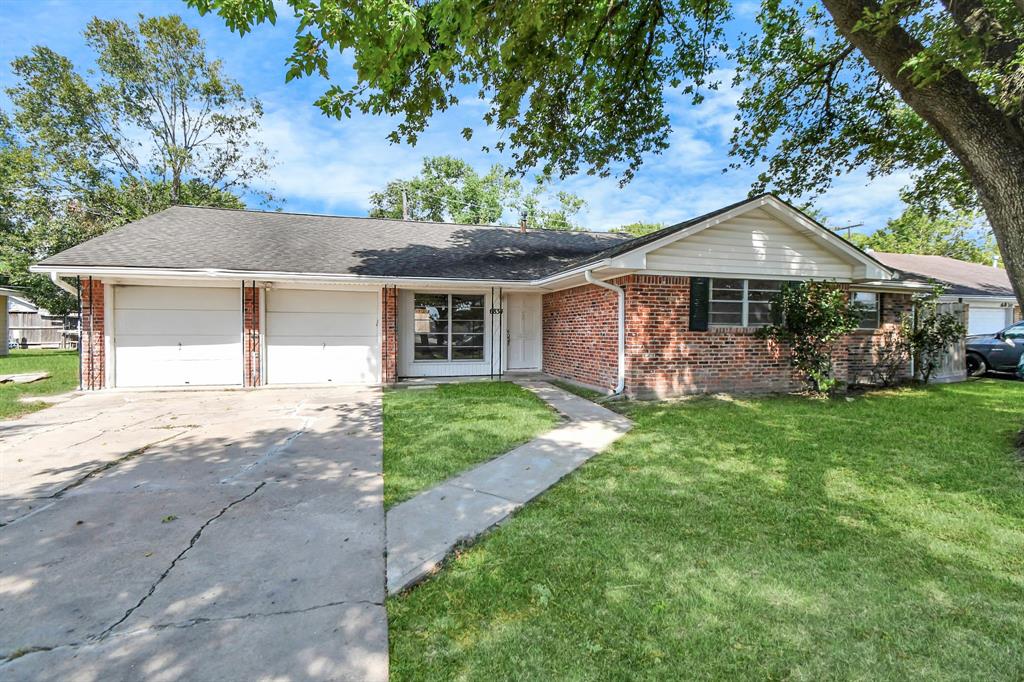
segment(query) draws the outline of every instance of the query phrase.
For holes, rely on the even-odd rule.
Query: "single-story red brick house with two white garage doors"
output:
[[[86,389],[543,371],[629,395],[788,390],[785,352],[754,336],[782,282],[866,304],[836,358],[850,381],[927,290],[771,195],[638,239],[174,207],[33,269],[81,292]]]

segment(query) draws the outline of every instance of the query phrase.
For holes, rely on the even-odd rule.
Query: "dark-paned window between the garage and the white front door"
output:
[[[414,294],[414,359],[483,359],[483,295]]]

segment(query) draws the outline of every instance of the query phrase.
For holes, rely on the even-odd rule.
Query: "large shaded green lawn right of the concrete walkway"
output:
[[[1024,678],[1024,383],[624,409],[388,600],[392,679]]]

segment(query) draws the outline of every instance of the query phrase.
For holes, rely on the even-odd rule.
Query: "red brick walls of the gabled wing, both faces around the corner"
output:
[[[667,397],[708,392],[784,392],[804,386],[788,350],[758,339],[755,330],[689,331],[690,283],[685,276],[630,275],[626,289],[626,392]],[[890,326],[910,309],[909,296],[885,295]],[[611,389],[616,372],[615,295],[593,285],[544,296],[544,371]],[[860,333],[839,344],[836,376],[869,371],[883,335]]]

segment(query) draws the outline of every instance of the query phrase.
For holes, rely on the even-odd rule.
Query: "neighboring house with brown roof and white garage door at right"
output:
[[[945,256],[873,251],[871,255],[905,280],[942,285],[942,300],[965,304],[968,335],[994,334],[1021,318],[1020,302],[1001,268]]]

